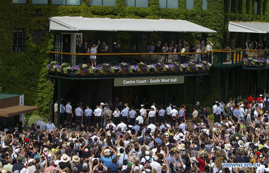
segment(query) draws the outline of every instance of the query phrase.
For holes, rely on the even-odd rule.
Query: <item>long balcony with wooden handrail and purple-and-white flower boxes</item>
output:
[[[244,58],[247,52],[248,57]],[[90,56],[96,56],[92,67]],[[193,76],[210,68],[269,68],[268,50],[213,50],[206,53],[62,53],[50,52],[50,76],[99,79],[136,76]],[[253,59],[256,63],[248,63]],[[264,62],[261,63],[260,59]],[[213,63],[212,63],[213,62]],[[68,76],[68,77],[67,77]],[[105,76],[105,77],[104,77]]]

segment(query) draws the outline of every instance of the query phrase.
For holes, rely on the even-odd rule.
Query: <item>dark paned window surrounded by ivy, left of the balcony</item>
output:
[[[24,51],[24,35],[23,30],[13,31],[13,52],[23,52]]]

